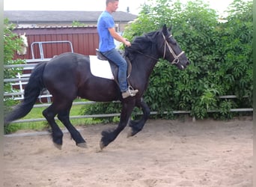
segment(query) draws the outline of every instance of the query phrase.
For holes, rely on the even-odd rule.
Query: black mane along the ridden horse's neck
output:
[[[135,37],[132,46],[126,47],[125,49],[125,54],[129,57],[130,61],[135,58],[135,53],[141,52],[147,54],[148,52],[155,52],[156,45],[154,43],[156,43],[156,36],[158,34],[159,31],[152,31],[141,37]]]

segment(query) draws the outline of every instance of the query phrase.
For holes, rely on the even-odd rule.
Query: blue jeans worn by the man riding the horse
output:
[[[124,60],[122,55],[120,55],[120,53],[116,49],[111,49],[108,52],[101,53],[118,66],[118,82],[120,91],[127,91],[127,61]]]

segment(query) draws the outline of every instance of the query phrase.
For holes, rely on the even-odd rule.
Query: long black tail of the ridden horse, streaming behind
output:
[[[28,84],[25,86],[24,99],[19,103],[19,105],[16,105],[10,114],[7,114],[7,116],[4,117],[4,125],[13,120],[25,117],[25,115],[31,111],[34,103],[37,101],[37,97],[40,95],[40,92],[45,88],[43,84],[43,70],[45,66],[46,62],[42,62],[34,67],[34,70],[28,80]]]

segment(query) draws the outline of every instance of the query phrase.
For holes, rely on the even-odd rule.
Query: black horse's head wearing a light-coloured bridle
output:
[[[162,58],[176,65],[180,70],[184,70],[189,65],[189,60],[186,58],[185,52],[180,49],[177,41],[174,40],[171,34],[171,27],[166,28],[166,25],[162,27],[162,39]]]

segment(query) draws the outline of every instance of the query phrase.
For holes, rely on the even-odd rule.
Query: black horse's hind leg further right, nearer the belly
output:
[[[58,119],[66,126],[67,130],[70,132],[71,137],[76,141],[78,147],[86,147],[86,142],[82,135],[76,130],[76,128],[70,123],[70,108],[72,102],[68,108],[58,113]]]

